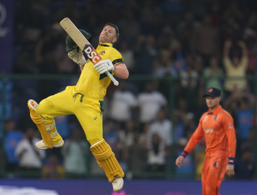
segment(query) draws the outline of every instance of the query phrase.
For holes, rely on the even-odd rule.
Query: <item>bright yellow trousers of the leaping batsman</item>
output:
[[[46,125],[53,123],[54,117],[74,114],[84,129],[87,140],[93,145],[103,140],[100,102],[98,99],[82,96],[75,91],[75,86],[68,86],[64,91],[43,99],[37,107],[37,113],[46,119]]]

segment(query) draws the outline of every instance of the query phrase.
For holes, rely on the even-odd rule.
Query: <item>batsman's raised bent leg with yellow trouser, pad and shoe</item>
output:
[[[30,115],[33,122],[37,125],[43,140],[36,143],[36,147],[41,150],[53,147],[62,147],[64,141],[57,132],[54,117],[72,114],[72,95],[71,89],[49,96],[39,104],[34,100],[28,101]]]

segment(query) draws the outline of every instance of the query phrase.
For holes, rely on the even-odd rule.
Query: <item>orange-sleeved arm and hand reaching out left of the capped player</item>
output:
[[[182,166],[182,161],[186,158],[186,156],[195,148],[195,146],[197,144],[199,144],[199,142],[201,141],[203,135],[204,135],[204,131],[202,129],[201,126],[201,119],[199,121],[199,125],[196,128],[195,132],[192,134],[188,144],[186,145],[186,147],[184,148],[184,151],[181,153],[181,155],[179,155],[176,159],[176,165],[178,166],[178,168],[181,168]]]

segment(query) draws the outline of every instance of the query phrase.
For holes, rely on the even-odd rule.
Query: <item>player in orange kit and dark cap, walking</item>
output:
[[[203,195],[218,195],[222,179],[235,175],[236,133],[233,118],[219,105],[221,91],[209,88],[203,95],[209,108],[199,121],[184,152],[177,157],[176,165],[181,168],[184,158],[204,136],[206,156],[203,163],[201,182]]]

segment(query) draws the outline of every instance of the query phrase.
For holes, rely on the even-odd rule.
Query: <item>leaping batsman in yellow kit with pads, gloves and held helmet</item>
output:
[[[90,34],[80,31],[88,40],[91,39]],[[67,86],[64,91],[43,99],[39,104],[34,100],[28,101],[31,118],[43,138],[36,143],[36,147],[40,150],[62,147],[64,141],[57,132],[54,118],[74,114],[84,129],[91,152],[112,182],[114,191],[123,187],[124,173],[102,136],[102,105],[111,82],[106,72],[112,72],[123,79],[129,76],[121,54],[113,48],[118,36],[119,31],[115,24],[107,23],[104,26],[96,48],[102,61],[94,66],[90,60],[86,61],[83,52],[68,35],[66,51],[82,71],[78,83],[76,86]]]

